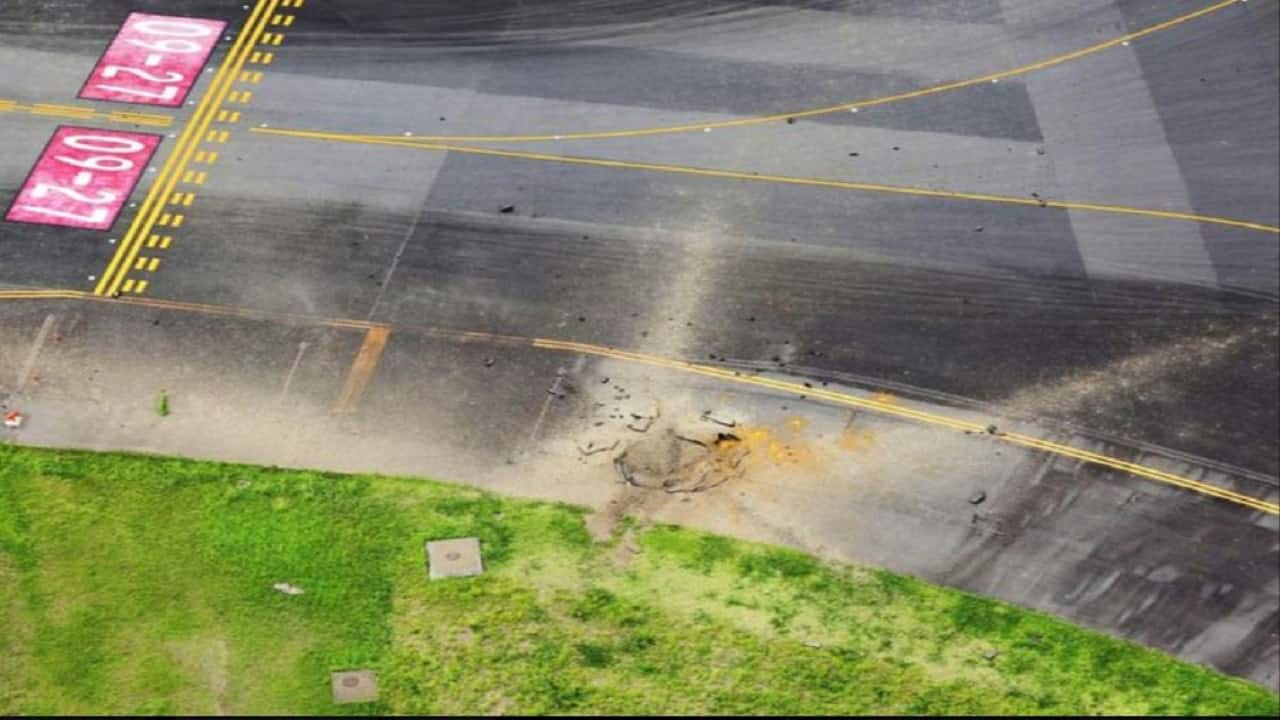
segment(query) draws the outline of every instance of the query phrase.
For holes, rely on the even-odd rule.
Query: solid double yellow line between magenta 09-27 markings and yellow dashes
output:
[[[266,23],[279,4],[280,0],[257,0],[253,12],[250,13],[244,27],[241,29],[239,37],[236,38],[236,44],[218,68],[209,92],[201,97],[191,120],[178,137],[178,145],[169,154],[159,177],[143,199],[138,214],[133,218],[133,223],[129,224],[129,229],[119,246],[116,246],[115,254],[106,265],[106,270],[93,288],[93,295],[114,296],[119,292],[120,283],[124,282],[129,268],[133,266],[133,261],[138,255],[138,250],[142,247],[142,241],[155,227],[168,199],[173,196],[178,178],[191,161],[191,156],[200,145],[201,138],[205,137],[205,132],[209,129],[210,123],[212,123],[214,115],[216,115],[219,108],[227,100],[227,94],[230,92],[241,68],[244,67],[250,51],[261,40]]]

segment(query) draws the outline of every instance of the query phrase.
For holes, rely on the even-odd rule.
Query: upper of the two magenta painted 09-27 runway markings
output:
[[[223,20],[132,13],[78,97],[177,108],[225,28]]]

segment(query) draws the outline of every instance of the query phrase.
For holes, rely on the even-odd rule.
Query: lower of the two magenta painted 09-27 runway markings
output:
[[[110,229],[159,145],[159,135],[61,126],[4,219]]]

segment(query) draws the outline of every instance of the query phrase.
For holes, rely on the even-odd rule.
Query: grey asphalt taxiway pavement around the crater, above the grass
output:
[[[1274,502],[1276,233],[1038,200],[1280,224],[1277,3],[1228,4],[998,82],[804,113],[1038,63],[1207,6],[307,0],[273,26],[284,35],[266,47],[273,61],[247,65],[262,77],[173,245],[142,251],[161,259],[129,275],[147,281],[145,293],[123,293],[269,315],[0,302],[10,341],[0,397],[59,414],[81,402],[100,420],[33,425],[29,442],[431,474],[593,503],[611,488],[538,475],[559,477],[539,462],[584,420],[545,397],[557,397],[547,395],[556,378],[595,382],[612,361],[490,346],[492,336],[557,338],[980,410]],[[128,12],[239,27],[243,8],[5,3],[0,100],[105,110],[74,95]],[[193,101],[215,82],[209,73]],[[173,114],[163,154],[200,110]],[[723,127],[758,115],[778,118]],[[59,122],[81,120],[0,113],[0,200]],[[529,158],[444,152],[422,140],[434,136],[547,138],[457,141],[540,154]],[[913,190],[792,182],[814,178]],[[133,222],[127,211],[110,233],[0,224],[0,290],[93,292]],[[45,363],[27,352],[46,318],[68,345],[40,357],[65,356],[32,370]],[[316,329],[316,318],[392,328],[355,414],[329,413],[361,337]],[[138,407],[159,378],[225,421],[156,429]],[[712,396],[675,375],[645,382],[662,402]],[[271,425],[282,439],[259,447],[229,429],[219,401],[233,398],[251,415],[301,414],[305,427],[288,433],[305,439]],[[786,411],[755,409],[764,401],[753,393],[742,402],[760,421],[827,411],[794,396]],[[364,450],[325,450],[335,442]],[[753,512],[772,519],[767,530],[718,529],[918,573],[1280,682],[1274,516],[1166,505],[1170,488],[1146,480],[970,445],[887,447],[904,466],[924,462],[925,478],[963,478],[964,492],[1004,483],[992,512],[1005,529],[974,530],[951,483],[920,487],[890,470],[897,495],[814,488],[760,500]],[[1071,486],[1066,500],[1059,486]],[[1129,493],[1158,502],[1134,509]],[[938,523],[950,530],[925,529]]]

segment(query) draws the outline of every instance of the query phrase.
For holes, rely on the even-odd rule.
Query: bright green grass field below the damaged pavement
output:
[[[1280,712],[998,602],[627,532],[426,480],[0,445],[0,714]],[[488,571],[429,582],[422,542],[460,536]],[[347,667],[379,671],[376,706],[330,703]]]

